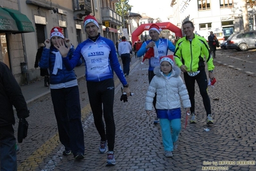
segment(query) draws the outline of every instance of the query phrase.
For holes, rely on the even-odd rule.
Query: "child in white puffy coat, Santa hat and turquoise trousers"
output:
[[[157,93],[157,116],[160,119],[162,141],[167,158],[173,156],[172,151],[178,145],[178,135],[182,129],[180,99],[187,113],[191,107],[187,88],[180,77],[180,72],[175,65],[173,55],[162,56],[160,66],[154,69],[156,75],[146,94],[145,110],[149,114],[152,110],[153,98]]]

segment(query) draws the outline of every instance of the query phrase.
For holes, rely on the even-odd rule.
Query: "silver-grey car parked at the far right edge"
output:
[[[247,51],[255,48],[256,31],[235,33],[226,40],[226,49],[236,49],[237,51]]]

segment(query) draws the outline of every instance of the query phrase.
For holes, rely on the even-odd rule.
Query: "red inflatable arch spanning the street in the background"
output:
[[[138,38],[139,35],[141,35],[141,33],[144,30],[148,30],[149,27],[151,26],[151,24],[141,24],[141,26],[139,26],[139,28],[137,28],[137,29],[135,29],[135,31],[133,31],[133,33],[132,33],[132,44],[134,44],[134,42],[139,40],[139,38]],[[173,33],[175,33],[176,37],[182,37],[182,29],[180,29],[177,26],[171,24],[171,22],[158,22],[158,23],[154,23],[154,24],[157,24],[157,26],[161,29],[169,29],[170,31],[173,31]]]

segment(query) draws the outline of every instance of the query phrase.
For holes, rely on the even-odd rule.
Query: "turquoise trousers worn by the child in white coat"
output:
[[[164,151],[173,151],[173,143],[178,140],[178,135],[182,129],[182,122],[180,118],[173,120],[160,118],[159,120],[162,130],[162,142],[164,145]]]

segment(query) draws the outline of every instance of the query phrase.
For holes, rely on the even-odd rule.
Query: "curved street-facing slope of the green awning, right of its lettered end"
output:
[[[17,10],[12,10],[9,8],[2,8],[6,12],[8,12],[12,18],[16,21],[17,27],[19,31],[17,33],[29,33],[29,32],[35,32],[35,29],[33,28],[33,24],[28,19],[26,15],[23,13],[17,11]]]

